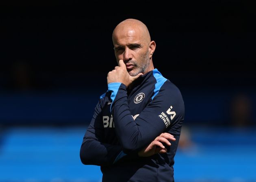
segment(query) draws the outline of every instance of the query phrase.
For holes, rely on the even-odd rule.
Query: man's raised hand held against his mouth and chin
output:
[[[107,81],[109,83],[120,82],[128,87],[134,80],[139,78],[142,73],[137,74],[136,76],[130,76],[127,72],[126,65],[122,59],[119,60],[119,66],[115,67],[115,70],[108,72]]]

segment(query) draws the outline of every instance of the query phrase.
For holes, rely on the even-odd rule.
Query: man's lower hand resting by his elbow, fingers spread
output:
[[[170,146],[171,143],[169,140],[175,141],[176,139],[170,133],[161,133],[161,135],[156,137],[155,140],[151,142],[147,147],[139,151],[138,155],[140,157],[150,157],[157,153],[164,154],[167,152],[167,149],[163,144]]]

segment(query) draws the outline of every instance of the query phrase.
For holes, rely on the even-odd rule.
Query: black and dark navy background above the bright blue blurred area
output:
[[[89,123],[116,65],[112,31],[126,18],[148,26],[154,66],[180,88],[188,124],[229,124],[240,94],[254,108],[254,3],[154,3],[2,4],[0,122]]]

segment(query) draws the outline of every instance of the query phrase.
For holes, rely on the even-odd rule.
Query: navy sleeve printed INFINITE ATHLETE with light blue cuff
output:
[[[184,119],[184,102],[179,89],[165,82],[158,93],[134,120],[129,109],[126,86],[108,84],[108,90],[115,97],[111,112],[115,121],[115,131],[124,152],[138,152],[158,135],[176,127]]]

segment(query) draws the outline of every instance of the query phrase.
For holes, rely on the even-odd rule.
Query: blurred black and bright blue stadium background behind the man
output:
[[[256,182],[254,3],[164,5],[0,6],[1,182],[101,181],[79,150],[116,64],[112,31],[126,18],[148,25],[154,66],[183,95],[176,182]]]

